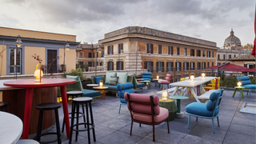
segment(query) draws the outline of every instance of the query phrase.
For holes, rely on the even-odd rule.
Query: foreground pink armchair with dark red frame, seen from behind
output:
[[[128,102],[127,107],[130,110],[130,135],[133,129],[133,122],[138,122],[139,126],[141,124],[152,125],[154,142],[154,126],[165,121],[167,122],[168,134],[170,134],[169,111],[158,106],[159,98],[157,95],[125,93],[124,98]]]

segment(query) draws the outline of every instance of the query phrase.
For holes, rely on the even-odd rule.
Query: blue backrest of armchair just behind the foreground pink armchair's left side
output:
[[[134,93],[133,87],[134,87],[134,84],[132,82],[117,85],[118,96],[120,98],[120,101],[122,98],[124,98],[125,93],[129,93],[129,94]]]

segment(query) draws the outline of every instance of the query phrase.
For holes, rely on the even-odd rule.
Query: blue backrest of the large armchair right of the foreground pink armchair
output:
[[[219,108],[222,102],[223,90],[218,89],[210,94],[210,101],[206,104],[206,109],[213,111],[213,117],[215,111]]]

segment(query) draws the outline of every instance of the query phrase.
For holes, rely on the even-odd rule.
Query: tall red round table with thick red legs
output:
[[[74,83],[74,79],[68,78],[42,78],[42,82],[34,82],[35,79],[17,79],[14,81],[3,82],[4,86],[12,86],[18,88],[26,88],[25,110],[23,120],[23,134],[22,138],[27,139],[30,130],[30,114],[33,98],[33,89],[42,87],[61,87],[62,106],[66,123],[66,135],[70,138],[70,118],[66,99],[66,85]]]

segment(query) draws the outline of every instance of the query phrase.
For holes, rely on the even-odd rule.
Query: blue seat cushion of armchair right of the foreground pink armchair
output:
[[[205,117],[212,117],[213,116],[213,110],[207,110],[206,109],[206,103],[200,103],[200,102],[192,102],[189,105],[186,106],[186,113],[189,114],[196,114],[201,115]],[[219,110],[216,109],[214,116],[218,115]]]

